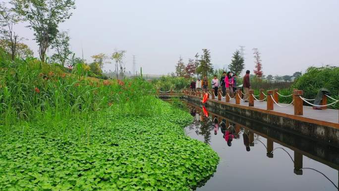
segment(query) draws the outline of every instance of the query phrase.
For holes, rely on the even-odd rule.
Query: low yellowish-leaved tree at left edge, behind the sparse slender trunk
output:
[[[11,54],[12,43],[5,39],[0,39],[0,48],[6,51],[8,54]],[[33,57],[33,51],[26,44],[16,42],[14,57],[15,56],[23,59],[27,57]]]

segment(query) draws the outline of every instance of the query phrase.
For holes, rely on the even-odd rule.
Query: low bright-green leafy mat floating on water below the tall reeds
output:
[[[218,155],[185,135],[188,113],[108,113],[71,130],[44,123],[0,131],[1,191],[189,191],[216,170]],[[95,121],[95,122],[94,122]],[[48,123],[45,123],[45,126]],[[39,126],[39,127],[38,127]],[[79,130],[79,129],[82,130]]]

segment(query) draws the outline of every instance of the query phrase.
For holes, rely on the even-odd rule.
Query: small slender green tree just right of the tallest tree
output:
[[[56,50],[56,54],[54,54],[53,57],[60,62],[62,66],[65,65],[68,56],[72,54],[72,51],[69,49],[69,39],[67,32],[60,32],[52,42],[52,49]]]

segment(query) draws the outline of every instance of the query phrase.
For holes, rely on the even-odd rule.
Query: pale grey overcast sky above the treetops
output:
[[[339,66],[339,0],[76,0],[69,30],[72,51],[91,62],[99,53],[126,50],[125,64],[148,74],[174,71],[201,49],[223,67],[245,46],[246,69],[253,72],[253,48],[264,74],[292,74],[308,66]],[[33,32],[20,27],[20,35]],[[26,43],[36,52],[34,41]],[[52,51],[49,53],[52,54]],[[106,69],[114,68],[106,64]]]

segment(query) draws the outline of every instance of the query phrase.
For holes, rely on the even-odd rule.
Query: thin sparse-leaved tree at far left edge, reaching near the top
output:
[[[6,52],[11,55],[12,61],[17,55],[18,35],[14,32],[14,25],[20,21],[20,17],[6,7],[6,4],[0,3],[0,38],[6,44]]]

